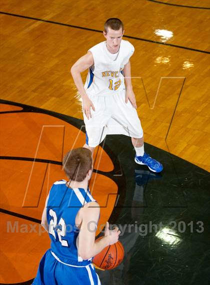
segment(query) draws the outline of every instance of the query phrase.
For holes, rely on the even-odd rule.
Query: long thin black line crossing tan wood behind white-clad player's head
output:
[[[102,33],[102,31],[100,31],[100,30],[95,30],[95,29],[90,29],[90,28],[85,28],[85,27],[79,27],[79,26],[64,24],[64,23],[60,23],[60,22],[54,22],[54,21],[50,21],[50,20],[43,20],[43,19],[39,19],[39,18],[33,18],[33,17],[22,16],[22,15],[6,13],[6,12],[0,12],[0,14],[8,15],[8,16],[14,16],[14,17],[19,17],[19,18],[24,18],[24,19],[29,19],[29,20],[35,20],[35,21],[40,21],[40,22],[45,22],[45,23],[50,23],[50,24],[55,24],[55,25],[60,25],[60,26],[80,29],[80,30],[86,30],[86,31],[91,31],[91,32],[96,32],[96,33]],[[198,49],[192,49],[192,48],[187,48],[187,47],[182,47],[182,46],[173,45],[173,44],[166,44],[166,43],[162,43],[162,42],[158,42],[158,41],[152,41],[152,40],[147,40],[147,39],[127,36],[127,35],[124,35],[123,37],[124,38],[128,38],[128,39],[142,41],[142,42],[148,42],[148,43],[153,43],[153,44],[158,44],[158,45],[163,45],[163,46],[169,46],[169,47],[178,48],[178,49],[184,49],[184,50],[189,50],[189,51],[194,51],[194,52],[199,52],[199,53],[204,53],[204,54],[210,54],[210,52],[207,52],[207,51],[198,50]]]

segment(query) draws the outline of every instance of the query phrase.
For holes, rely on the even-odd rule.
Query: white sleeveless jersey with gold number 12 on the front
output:
[[[104,41],[88,51],[92,53],[94,65],[88,69],[86,93],[105,96],[124,89],[123,68],[134,52],[133,45],[121,40],[118,52],[111,54]]]

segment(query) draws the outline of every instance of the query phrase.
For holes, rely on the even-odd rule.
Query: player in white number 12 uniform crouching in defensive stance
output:
[[[108,19],[103,35],[106,41],[90,48],[72,67],[71,75],[82,99],[86,129],[84,147],[92,152],[107,134],[131,137],[135,162],[147,165],[153,172],[162,171],[161,163],[144,152],[143,130],[136,112],[132,90],[130,61],[134,47],[122,40],[123,24]],[[88,69],[83,86],[80,73]],[[92,110],[91,110],[92,109]]]

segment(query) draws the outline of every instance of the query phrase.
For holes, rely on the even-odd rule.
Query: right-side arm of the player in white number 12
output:
[[[125,96],[125,103],[129,100],[132,106],[137,109],[136,101],[135,101],[135,94],[132,90],[132,82],[131,82],[131,69],[130,69],[130,61],[125,64],[123,68],[124,73],[124,81],[126,86],[126,96]]]

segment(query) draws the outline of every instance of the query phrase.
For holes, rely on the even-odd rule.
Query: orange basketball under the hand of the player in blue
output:
[[[92,262],[103,270],[109,270],[117,267],[122,262],[123,257],[124,248],[118,240],[116,243],[103,248],[102,251],[93,257]]]

